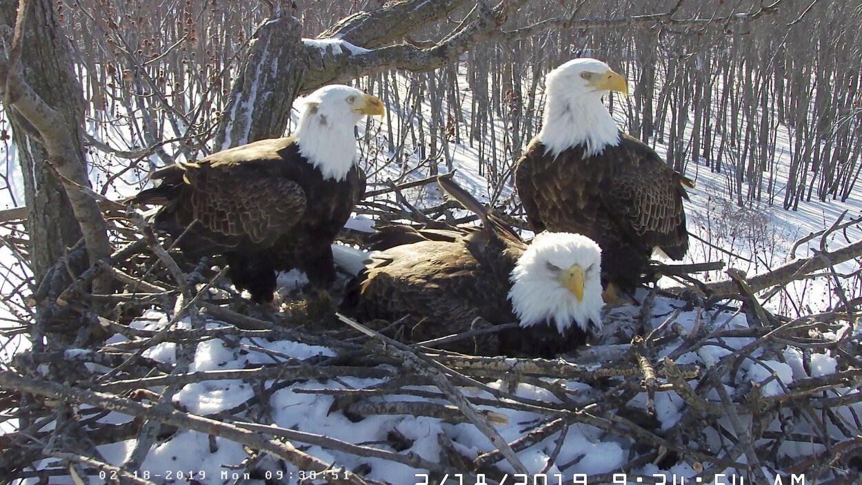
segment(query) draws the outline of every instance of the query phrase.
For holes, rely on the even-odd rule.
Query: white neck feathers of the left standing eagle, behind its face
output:
[[[293,134],[299,152],[321,171],[323,178],[344,180],[356,163],[356,137],[353,127],[359,116],[323,113],[314,105],[306,105],[299,115],[299,127]]]

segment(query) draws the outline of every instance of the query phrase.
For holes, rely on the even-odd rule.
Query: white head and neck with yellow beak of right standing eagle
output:
[[[620,143],[619,128],[602,103],[609,91],[628,93],[625,78],[596,59],[572,59],[545,77],[547,103],[539,140],[554,155],[585,145],[585,156]]]

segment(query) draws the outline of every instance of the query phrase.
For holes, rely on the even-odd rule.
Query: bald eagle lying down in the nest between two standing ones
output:
[[[540,233],[526,245],[451,180],[440,185],[482,218],[482,227],[375,235],[372,260],[348,287],[342,309],[359,320],[401,320],[413,342],[519,322],[496,339],[461,340],[447,350],[551,357],[582,345],[602,325],[599,247],[572,233]],[[336,252],[336,262],[342,264]]]

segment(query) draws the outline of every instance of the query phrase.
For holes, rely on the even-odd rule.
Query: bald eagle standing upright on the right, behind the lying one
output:
[[[624,289],[644,282],[657,249],[688,251],[684,187],[694,183],[620,131],[602,103],[625,79],[596,59],[574,59],[545,78],[542,128],[515,166],[515,186],[536,232],[582,233],[602,247],[603,277]],[[607,298],[613,298],[611,289]]]

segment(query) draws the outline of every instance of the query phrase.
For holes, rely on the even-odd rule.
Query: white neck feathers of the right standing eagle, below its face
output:
[[[620,144],[620,130],[597,93],[565,96],[549,86],[539,140],[553,155],[585,145],[585,157]]]

